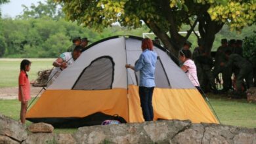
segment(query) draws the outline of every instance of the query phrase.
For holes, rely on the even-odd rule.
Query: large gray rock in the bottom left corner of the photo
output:
[[[28,137],[28,133],[25,130],[25,126],[20,122],[13,120],[0,114],[0,135],[2,139],[8,139],[10,137],[14,141],[22,142]],[[5,140],[3,140],[5,141]],[[0,143],[3,143],[0,140]]]

